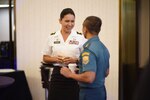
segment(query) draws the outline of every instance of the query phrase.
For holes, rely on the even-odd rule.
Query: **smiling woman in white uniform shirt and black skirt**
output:
[[[86,39],[81,33],[72,30],[75,25],[75,14],[71,8],[62,10],[59,22],[61,30],[49,35],[43,50],[43,61],[55,66],[51,75],[48,99],[79,100],[77,81],[62,76],[60,68],[66,66],[72,70],[76,67]]]

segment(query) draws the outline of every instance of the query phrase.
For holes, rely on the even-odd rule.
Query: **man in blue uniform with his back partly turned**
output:
[[[100,41],[102,21],[99,17],[89,16],[83,22],[83,33],[88,41],[79,59],[79,74],[72,73],[67,67],[61,74],[79,81],[80,100],[106,100],[105,77],[109,73],[109,51]]]

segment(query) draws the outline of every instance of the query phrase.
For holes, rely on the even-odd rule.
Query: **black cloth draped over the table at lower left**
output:
[[[0,88],[0,100],[32,100],[24,71],[0,72],[0,76],[11,77],[15,80],[12,85]]]

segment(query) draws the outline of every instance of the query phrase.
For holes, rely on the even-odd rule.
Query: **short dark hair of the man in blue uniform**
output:
[[[84,20],[85,26],[90,33],[98,34],[101,30],[102,20],[96,16],[89,16]]]

